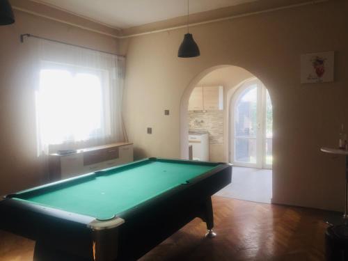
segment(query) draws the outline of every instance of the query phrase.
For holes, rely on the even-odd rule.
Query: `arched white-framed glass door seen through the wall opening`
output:
[[[271,99],[258,80],[246,82],[230,106],[231,162],[236,166],[271,168]]]

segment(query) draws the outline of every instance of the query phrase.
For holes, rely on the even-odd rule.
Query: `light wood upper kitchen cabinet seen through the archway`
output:
[[[203,86],[193,89],[189,111],[223,110],[223,86]]]

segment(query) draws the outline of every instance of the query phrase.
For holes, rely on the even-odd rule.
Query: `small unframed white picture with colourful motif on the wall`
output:
[[[301,84],[333,81],[335,52],[301,55]]]

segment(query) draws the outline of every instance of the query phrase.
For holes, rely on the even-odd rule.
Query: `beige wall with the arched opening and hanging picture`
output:
[[[344,159],[319,148],[336,145],[340,124],[348,126],[347,5],[329,1],[195,26],[198,58],[177,58],[184,29],[122,40],[125,123],[136,157],[180,157],[182,95],[210,68],[235,65],[258,77],[273,102],[274,202],[342,210]],[[328,50],[336,52],[335,81],[301,85],[301,54]]]

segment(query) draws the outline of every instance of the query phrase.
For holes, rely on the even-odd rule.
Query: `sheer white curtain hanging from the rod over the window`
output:
[[[124,141],[125,58],[27,38],[35,82],[38,155]]]

